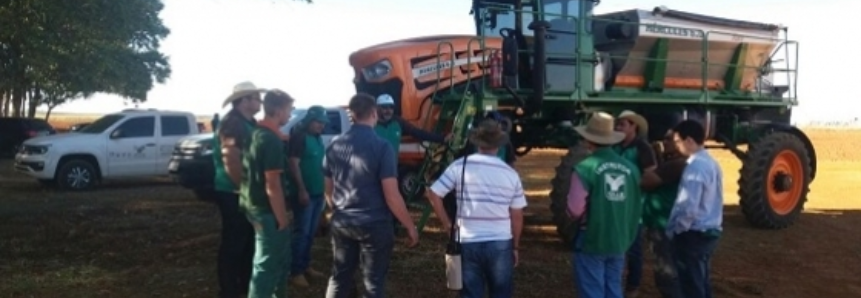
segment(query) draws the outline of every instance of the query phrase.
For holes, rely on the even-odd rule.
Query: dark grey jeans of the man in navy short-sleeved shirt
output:
[[[392,225],[330,226],[332,234],[332,276],[326,298],[346,298],[354,295],[353,273],[361,267],[366,298],[386,297],[386,273],[395,245]]]

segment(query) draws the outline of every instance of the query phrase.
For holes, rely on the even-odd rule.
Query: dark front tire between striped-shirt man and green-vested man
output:
[[[553,224],[556,225],[556,233],[563,243],[570,244],[573,240],[574,221],[568,216],[568,190],[571,187],[571,173],[574,165],[589,156],[585,146],[578,145],[568,149],[568,154],[562,157],[559,166],[556,167],[556,177],[551,180],[550,212],[553,214]]]

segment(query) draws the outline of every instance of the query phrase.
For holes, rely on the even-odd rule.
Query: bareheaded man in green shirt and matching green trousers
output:
[[[284,196],[287,137],[280,128],[292,110],[293,98],[282,91],[268,92],[265,117],[252,131],[242,158],[239,206],[254,226],[257,241],[249,298],[287,297],[292,215]]]

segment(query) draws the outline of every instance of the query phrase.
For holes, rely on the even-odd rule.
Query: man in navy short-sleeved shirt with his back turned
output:
[[[374,133],[374,98],[353,96],[350,111],[355,124],[332,140],[323,159],[334,259],[326,298],[353,294],[353,273],[359,266],[365,274],[364,297],[382,298],[394,246],[394,219],[408,227],[410,247],[418,244],[418,230],[398,191],[395,150]]]

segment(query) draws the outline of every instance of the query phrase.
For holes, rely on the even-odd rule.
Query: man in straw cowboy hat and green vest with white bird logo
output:
[[[622,297],[625,252],[642,213],[640,171],[611,146],[625,139],[613,116],[599,112],[575,127],[591,154],[574,166],[568,213],[581,230],[574,240],[578,297]]]

